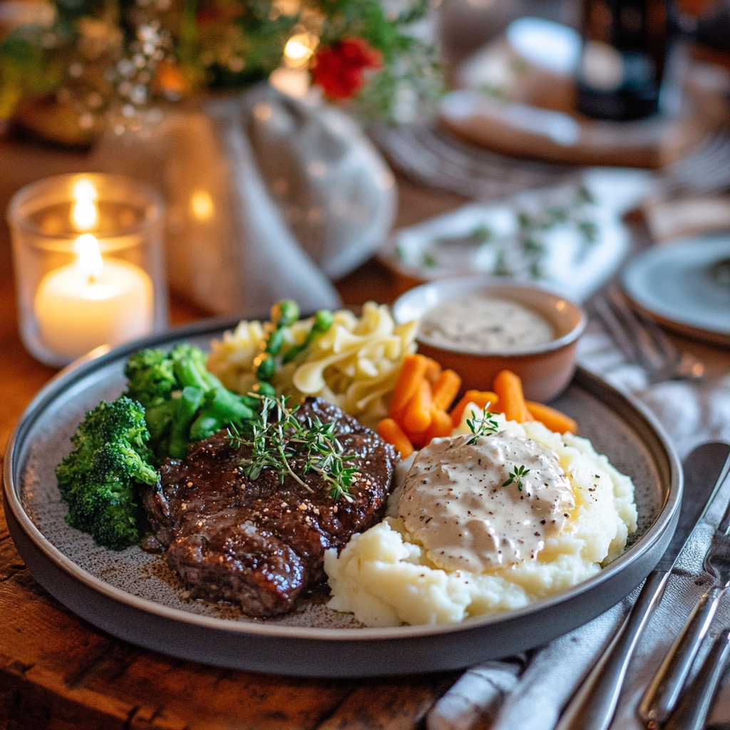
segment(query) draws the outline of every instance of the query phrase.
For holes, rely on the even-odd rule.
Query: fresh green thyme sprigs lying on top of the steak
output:
[[[307,491],[313,492],[301,477],[308,472],[316,472],[330,485],[329,496],[335,502],[340,498],[353,502],[349,488],[357,467],[348,466],[347,462],[356,457],[343,455],[345,450],[334,435],[334,423],[322,423],[317,416],[301,423],[294,416],[299,407],[288,409],[286,398],[252,395],[261,400],[261,412],[258,418],[247,423],[250,435],[231,429],[233,432],[229,431],[228,436],[235,449],[242,446],[251,449],[250,457],[240,461],[241,466],[245,466],[246,476],[256,480],[269,466],[278,472],[280,484],[289,475]],[[292,466],[295,460],[304,461],[301,476]]]

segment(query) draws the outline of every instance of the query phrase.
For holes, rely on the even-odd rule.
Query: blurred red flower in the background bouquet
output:
[[[312,68],[312,79],[330,99],[350,99],[365,85],[365,69],[382,65],[380,51],[362,38],[343,38],[320,47]]]

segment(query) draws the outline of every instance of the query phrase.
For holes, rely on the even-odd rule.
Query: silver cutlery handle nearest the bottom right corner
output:
[[[704,730],[730,658],[730,627],[715,639],[710,653],[664,730]]]

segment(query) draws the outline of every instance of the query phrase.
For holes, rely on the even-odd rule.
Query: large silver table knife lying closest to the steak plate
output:
[[[664,595],[677,556],[702,520],[729,469],[730,446],[726,444],[703,444],[686,458],[684,472],[688,478],[672,542],[656,568],[650,572],[623,626],[566,704],[556,730],[607,730],[610,726],[629,662],[645,626]],[[694,474],[700,471],[703,472],[703,478],[696,480]]]

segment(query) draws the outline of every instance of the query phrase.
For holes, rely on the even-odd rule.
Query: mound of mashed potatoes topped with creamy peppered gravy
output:
[[[552,596],[621,554],[637,527],[629,477],[538,422],[497,415],[499,433],[475,445],[474,410],[401,463],[382,523],[328,550],[329,607],[368,626],[453,623]]]

